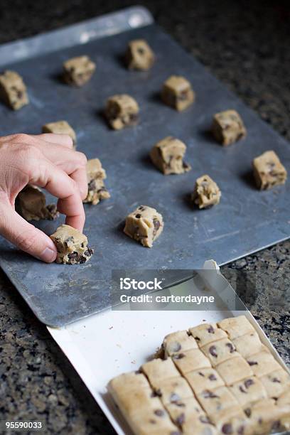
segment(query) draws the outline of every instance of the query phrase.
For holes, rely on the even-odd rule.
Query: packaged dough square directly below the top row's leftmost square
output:
[[[183,376],[193,370],[211,367],[210,360],[199,349],[191,349],[186,352],[176,353],[172,357],[174,364]]]

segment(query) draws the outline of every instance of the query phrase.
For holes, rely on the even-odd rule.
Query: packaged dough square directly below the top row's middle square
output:
[[[210,360],[213,367],[222,363],[229,358],[235,358],[240,354],[237,353],[235,345],[228,338],[222,338],[222,340],[214,341],[201,348],[205,356]]]

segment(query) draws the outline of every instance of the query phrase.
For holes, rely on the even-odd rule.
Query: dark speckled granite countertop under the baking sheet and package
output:
[[[139,1],[272,127],[290,139],[290,6],[282,1]],[[279,6],[278,6],[279,3]],[[132,1],[1,1],[0,43],[92,18]],[[283,6],[284,5],[284,6]],[[17,13],[16,13],[17,11]],[[222,267],[290,365],[290,241]],[[45,326],[0,271],[1,419],[45,434],[113,434]],[[5,399],[3,399],[5,398]]]

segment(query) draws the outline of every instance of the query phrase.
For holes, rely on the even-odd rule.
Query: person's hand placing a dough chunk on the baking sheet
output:
[[[73,151],[73,140],[66,134],[12,134],[0,137],[0,162],[0,234],[44,262],[55,261],[53,241],[16,213],[15,200],[28,184],[44,188],[58,198],[65,223],[82,231],[85,155]]]

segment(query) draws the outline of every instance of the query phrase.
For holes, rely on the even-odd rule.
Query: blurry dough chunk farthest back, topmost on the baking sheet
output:
[[[125,63],[129,70],[149,70],[154,60],[154,52],[144,39],[134,39],[129,42],[125,54]]]

